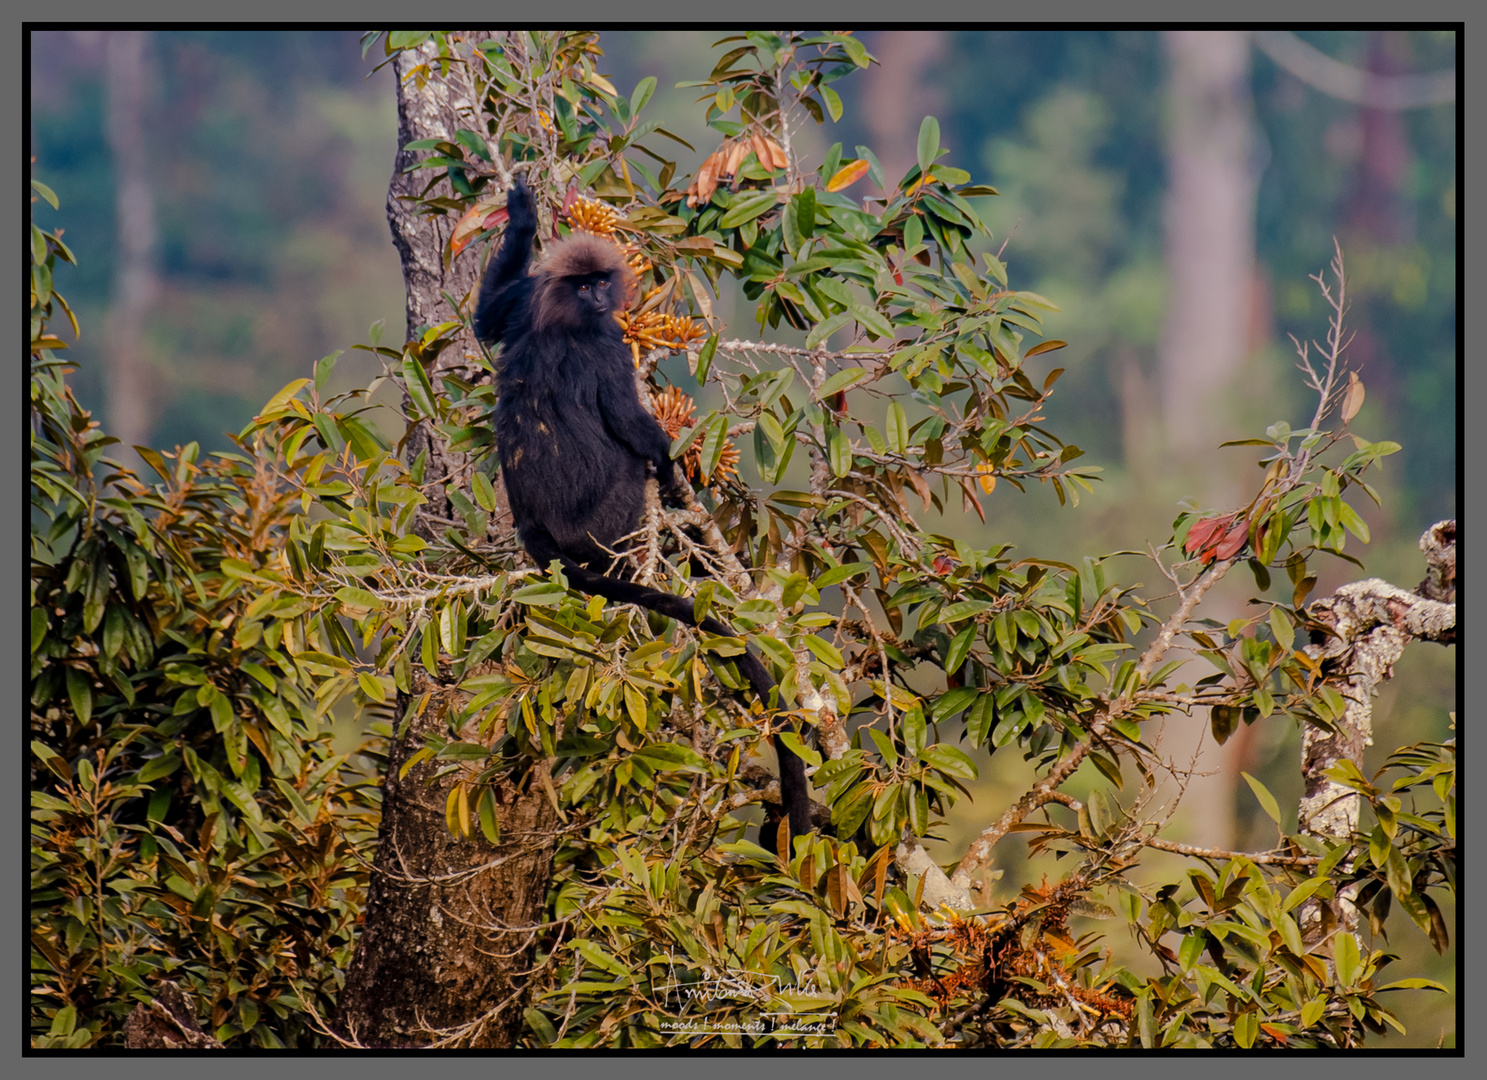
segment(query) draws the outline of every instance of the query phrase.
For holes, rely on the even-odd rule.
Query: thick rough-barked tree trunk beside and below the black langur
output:
[[[419,138],[451,138],[458,128],[479,129],[474,89],[457,79],[404,82],[418,62],[397,58],[399,146]],[[457,68],[458,70],[458,68]],[[407,283],[407,335],[454,318],[442,293],[462,298],[474,284],[477,253],[445,268],[442,250],[454,222],[418,217],[399,195],[421,190],[427,174],[404,174],[413,155],[400,150],[388,193],[393,242]],[[468,348],[476,348],[468,342]],[[462,350],[449,348],[440,366],[462,363]],[[409,439],[407,458],[428,451],[424,507],[416,531],[442,531],[440,518],[454,515],[446,485],[468,483],[470,460],[449,454],[427,424]],[[537,771],[498,793],[501,845],[476,830],[470,839],[449,833],[445,806],[452,777],[434,778],[437,766],[421,762],[401,775],[403,765],[425,736],[448,733],[449,711],[459,692],[448,672],[415,665],[413,693],[400,695],[407,730],[394,741],[382,784],[382,824],[367,896],[366,924],[346,971],[336,1028],[366,1046],[509,1047],[523,1029],[525,973],[531,968],[547,882],[552,876],[556,812]],[[428,695],[424,699],[424,695]],[[477,732],[459,738],[476,739]]]

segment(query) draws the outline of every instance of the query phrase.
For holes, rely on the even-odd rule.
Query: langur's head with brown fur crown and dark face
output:
[[[614,241],[587,234],[553,244],[534,277],[532,329],[538,333],[608,330],[635,296],[625,253]]]

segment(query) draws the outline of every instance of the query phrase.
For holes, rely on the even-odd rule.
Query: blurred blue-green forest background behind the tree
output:
[[[717,138],[696,91],[672,88],[711,70],[724,33],[602,39],[601,70],[622,92],[657,77],[651,112],[696,147],[677,147],[684,168]],[[978,210],[1014,286],[1062,308],[1045,320],[1069,342],[1054,356],[1068,373],[1047,424],[1105,469],[1078,507],[1004,485],[986,500],[984,527],[956,515],[943,531],[984,530],[981,543],[1078,562],[1161,543],[1182,498],[1216,510],[1248,501],[1254,448],[1218,443],[1309,422],[1288,335],[1325,333],[1307,278],[1335,237],[1356,335],[1349,359],[1368,391],[1353,428],[1404,452],[1374,475],[1383,507],[1361,507],[1373,543],[1349,553],[1367,574],[1334,559],[1313,595],[1364,576],[1419,582],[1420,533],[1457,515],[1454,33],[861,39],[880,64],[837,83],[843,119],[800,132],[797,150],[815,165],[831,143],[867,146],[900,176],[920,119],[938,118],[953,159],[1001,190]],[[79,259],[58,275],[83,324],[73,385],[126,446],[229,449],[226,433],[317,359],[367,341],[378,320],[390,344],[403,333],[384,210],[393,74],[369,77],[378,54],[363,60],[358,34],[39,31],[30,51],[33,176],[61,198],[59,213],[34,211],[43,228],[65,228]],[[755,332],[742,296],[715,309],[733,335]],[[370,378],[367,354],[354,357],[341,378]],[[1139,556],[1108,573],[1164,592]],[[1248,614],[1254,595],[1237,577],[1228,617]],[[1375,707],[1375,750],[1451,733],[1454,665],[1454,649],[1407,652]],[[1273,826],[1236,780],[1251,772],[1295,805],[1300,730],[1277,720],[1222,748],[1204,741],[1199,763],[1212,775],[1184,803],[1203,815],[1179,818],[1187,835],[1175,839],[1271,843]],[[1175,727],[1167,753],[1199,753],[1206,726]],[[983,763],[984,782],[1016,768],[1008,757]],[[958,845],[978,827],[952,821],[944,839]],[[1014,884],[1016,860],[999,863]],[[1407,927],[1392,939],[1428,949]],[[1454,989],[1450,964],[1439,968],[1429,974]],[[1401,1019],[1411,1034],[1438,1026]]]

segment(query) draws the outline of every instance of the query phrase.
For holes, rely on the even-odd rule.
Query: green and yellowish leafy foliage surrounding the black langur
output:
[[[1097,473],[1045,427],[1063,342],[1041,335],[1050,300],[993,253],[977,201],[995,192],[949,159],[934,118],[903,177],[865,146],[806,168],[791,132],[839,118],[833,83],[873,62],[851,34],[720,46],[694,83],[720,144],[678,177],[657,140],[680,140],[642,119],[654,79],[622,94],[593,34],[367,39],[416,60],[404,94],[479,104],[406,147],[425,155],[415,207],[446,263],[480,257],[517,171],[552,232],[630,251],[638,376],[702,485],[696,506],[648,515],[638,573],[738,628],[779,680],[778,713],[735,701],[738,640],[522,568],[489,464],[406,460],[413,431],[488,460],[498,387],[470,298],[445,298],[459,317],[401,347],[358,345],[379,364],[366,388],[327,394],[326,357],[238,452],[147,452],[161,480],[146,483],[104,458],[110,439],[67,391],[48,320],[70,253],[33,229],[37,1046],[116,1038],[165,976],[226,1043],[323,1037],[381,739],[428,710],[443,730],[403,772],[437,766],[471,866],[520,839],[503,833],[503,784],[547,782],[561,818],[534,1046],[1358,1046],[1395,1022],[1380,991],[1426,986],[1386,983],[1392,957],[1349,912],[1377,931],[1398,903],[1445,948],[1451,745],[1402,748],[1389,777],[1338,766],[1377,824],[1141,872],[1163,846],[1151,719],[1209,707],[1219,739],[1240,721],[1346,721],[1338,671],[1298,631],[1313,559],[1367,541],[1347,495],[1373,494],[1364,475],[1396,446],[1347,431],[1340,257],[1307,363],[1316,418],[1248,440],[1264,479],[1246,507],[1176,518],[1157,562],[1172,598],[1111,580],[1102,558],[981,547],[952,515],[995,533],[1008,488],[1077,504]],[[880,195],[855,193],[864,177]],[[720,326],[729,281],[776,339]],[[384,385],[401,397],[391,424]],[[1240,565],[1261,591],[1286,573],[1291,602],[1204,620],[1203,594]],[[1185,677],[1193,658],[1210,674]],[[369,735],[355,754],[332,745],[341,708]],[[748,811],[770,799],[755,759],[785,720],[816,729],[819,748],[794,745],[830,826],[770,849]],[[1028,790],[984,808],[947,875],[919,838],[987,797],[977,762],[996,750],[1025,759]],[[1086,800],[1060,790],[1081,763],[1102,778]],[[1053,881],[999,897],[990,848],[1014,829]],[[1091,916],[1124,921],[1135,951],[1118,958]]]

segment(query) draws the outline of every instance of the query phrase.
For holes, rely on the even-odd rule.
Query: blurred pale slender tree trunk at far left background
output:
[[[109,345],[100,356],[109,388],[109,427],[125,448],[150,443],[155,403],[161,400],[159,378],[152,372],[144,347],[144,318],[159,295],[155,193],[150,187],[150,152],[144,143],[149,37],[144,30],[113,30],[104,37],[104,128],[117,181],[117,250]],[[120,457],[126,463],[135,458],[131,449]]]

